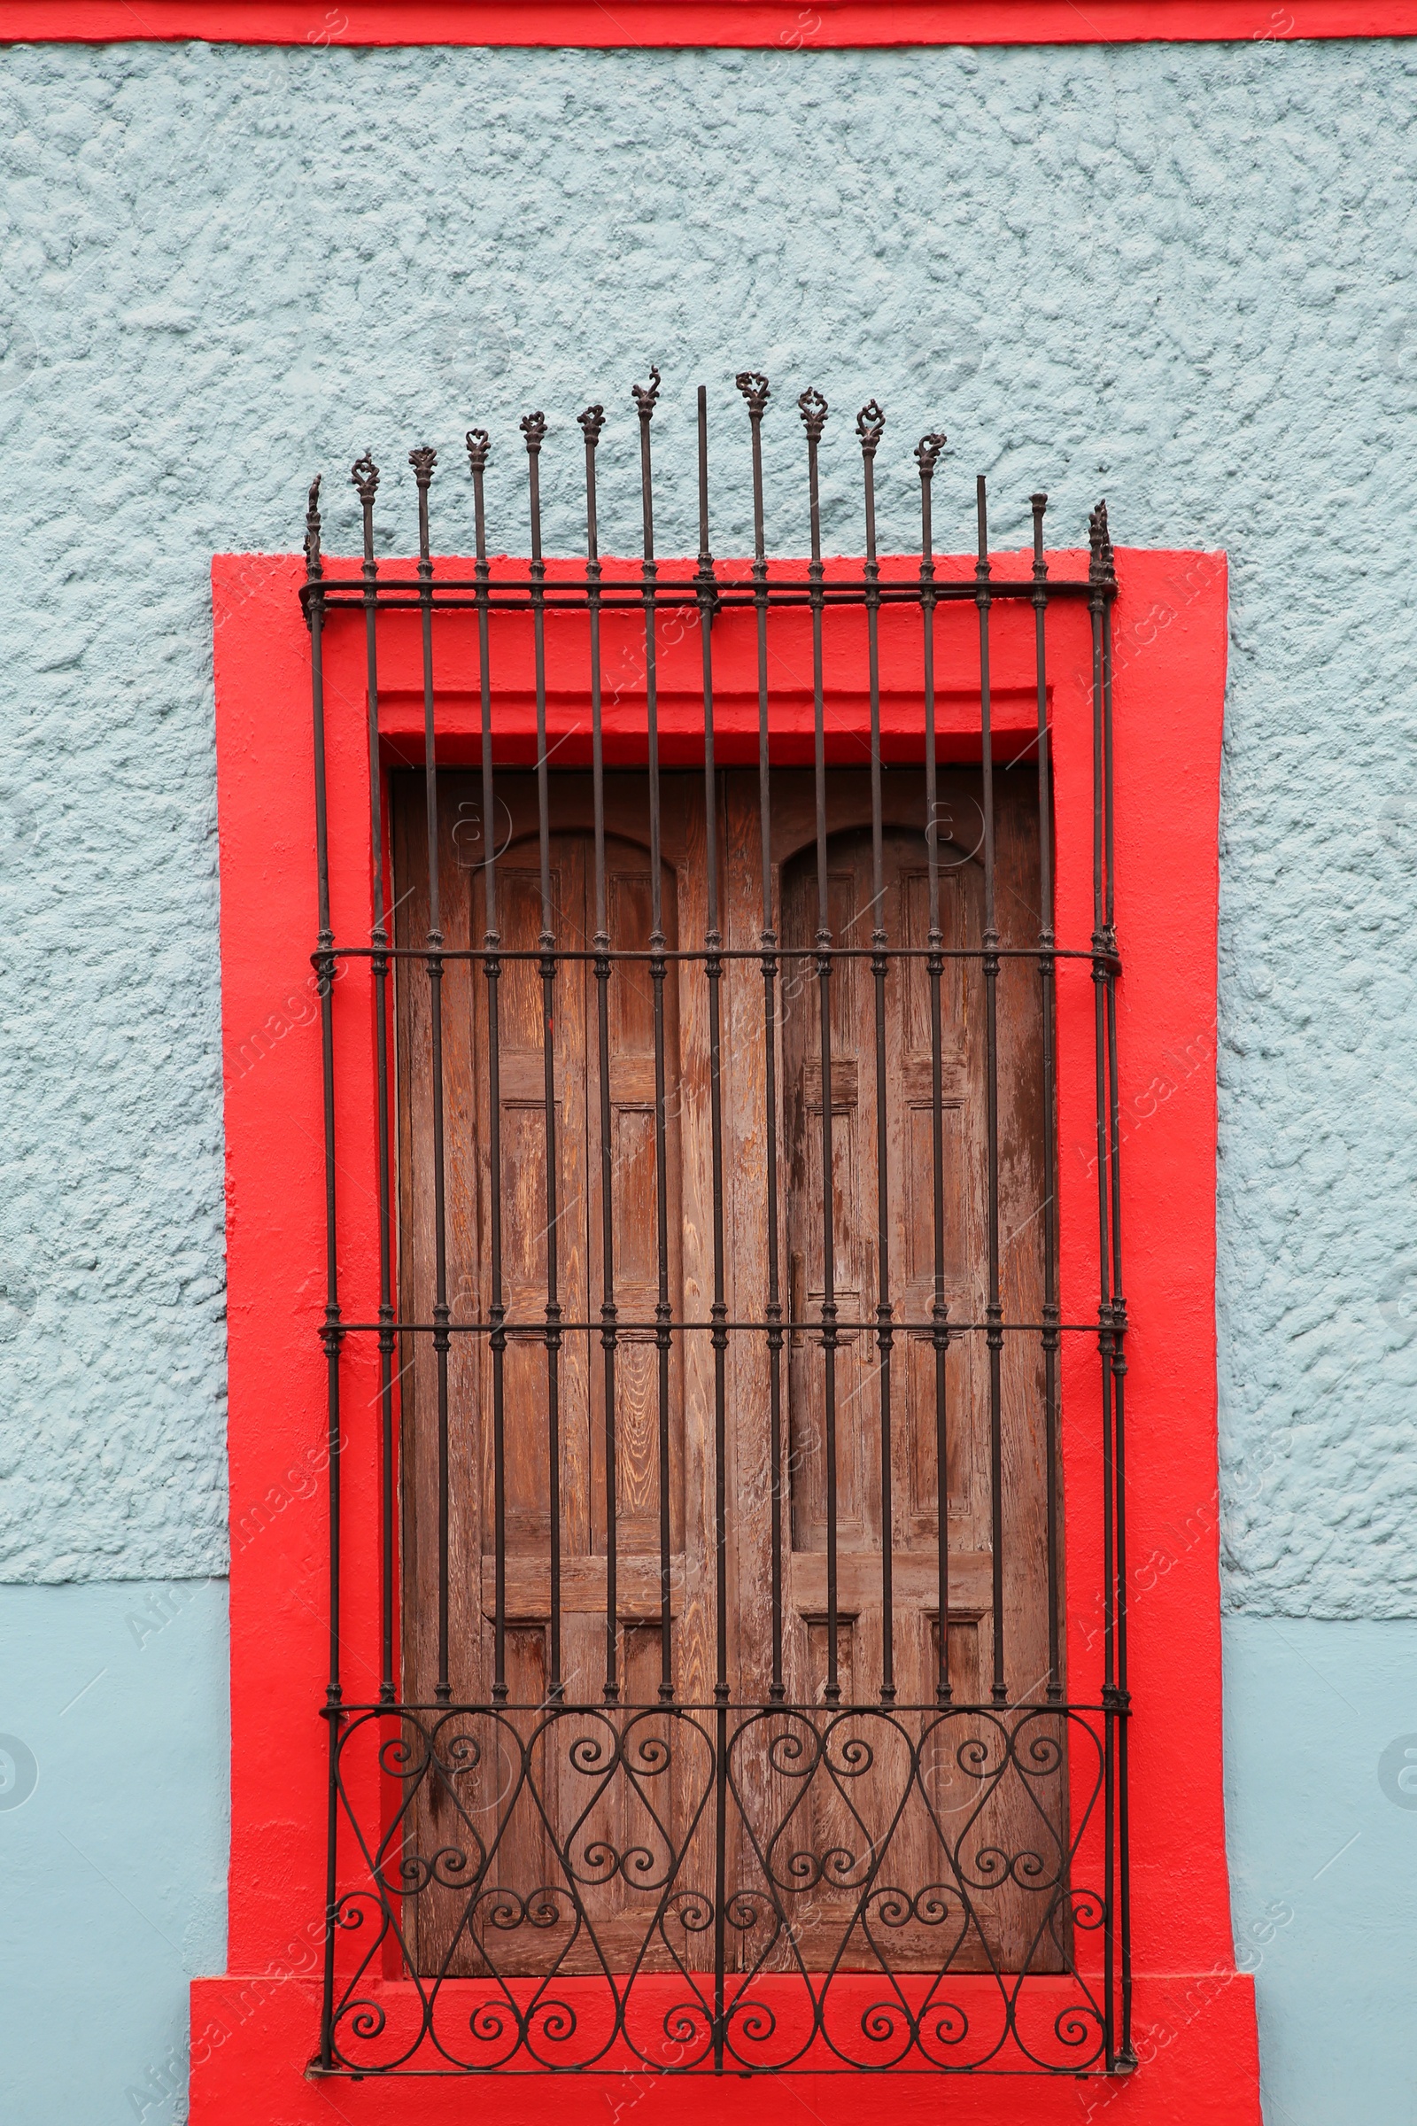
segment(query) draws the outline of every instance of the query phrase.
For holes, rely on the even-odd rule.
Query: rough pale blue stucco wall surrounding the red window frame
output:
[[[1045,485],[1060,534],[1107,491],[1126,542],[1230,551],[1228,1601],[1417,1612],[1415,113],[1383,43],[0,55],[2,1573],[225,1560],[212,549],[293,549],[317,468],[348,544],[357,451],[470,419],[518,544],[508,442],[546,406],[565,551],[591,398],[627,544],[656,359],[667,472],[686,387],[727,412],[758,364],[884,400],[901,542],[943,423],[941,542],[986,470],[1001,540]],[[843,434],[826,459],[848,546]],[[746,536],[739,504],[716,546]]]

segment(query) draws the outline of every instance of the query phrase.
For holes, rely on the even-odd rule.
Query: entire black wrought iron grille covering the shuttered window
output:
[[[829,408],[805,391],[797,404],[809,559],[805,568],[769,563],[769,385],[758,374],[737,385],[752,463],[748,563],[722,566],[710,551],[703,389],[699,555],[695,563],[656,559],[659,372],[633,393],[644,514],[635,563],[599,555],[599,406],[578,417],[586,555],[574,568],[542,553],[540,412],[520,423],[529,563],[489,557],[482,429],[467,436],[472,572],[433,561],[431,449],[410,453],[414,570],[376,559],[380,474],[368,455],[353,468],[363,512],[357,572],[323,559],[321,483],[310,489],[302,600],[317,763],[312,961],[325,1086],[321,1333],[331,1507],[329,1903],[317,2071],[331,2075],[1077,2075],[1132,2064],[1107,510],[1092,512],[1086,572],[1058,574],[1043,544],[1047,497],[1032,495],[1032,568],[998,574],[979,478],[973,574],[941,574],[931,495],[945,438],[928,434],[914,451],[918,566],[884,566],[875,532],[884,415],[871,402],[856,419],[865,557],[826,561],[820,455]],[[960,602],[977,612],[977,670],[969,674],[977,767],[967,770],[941,765],[937,742],[937,623]],[[1005,602],[1032,610],[1037,733],[1026,831],[1005,823],[994,759],[990,651]],[[1058,602],[1083,604],[1092,642],[1094,910],[1092,935],[1071,942],[1058,942],[1052,912],[1047,617]],[[918,680],[914,731],[892,750],[882,738],[880,640],[894,608],[918,614]],[[397,778],[380,763],[378,723],[382,617],[397,610],[416,617],[423,672],[423,767],[416,797],[402,791],[402,812],[391,797]],[[453,672],[440,629],[459,610],[476,623],[476,638],[459,638],[476,640],[476,655],[470,670]],[[741,767],[731,787],[716,759],[716,646],[733,612],[754,629],[758,725],[756,776]],[[773,723],[773,631],[792,612],[809,629],[809,767],[782,765]],[[829,729],[829,638],[848,625],[831,617],[841,612],[858,617],[850,625],[865,636],[867,670],[863,765],[850,787],[833,763]],[[325,797],[323,646],[331,629],[359,625],[357,614],[368,661],[374,927],[368,942],[340,942],[329,836],[342,823]],[[586,648],[591,774],[578,789],[559,780],[548,742],[548,634],[561,625],[565,636],[567,619]],[[529,636],[531,761],[518,761],[506,738],[497,644],[512,642],[512,625],[523,646]],[[637,629],[642,651],[631,784],[605,759],[603,638],[612,625]],[[661,761],[659,672],[673,625],[697,627],[699,642],[701,765],[690,770]],[[436,651],[444,659],[438,680]],[[476,702],[480,744],[480,780],[457,782],[474,789],[463,802],[480,836],[472,863],[465,840],[448,842],[457,778],[438,759],[438,693],[457,685]],[[625,925],[616,935],[612,906],[625,804],[644,806],[648,848],[650,899],[633,935]],[[956,831],[973,804],[977,833]],[[773,857],[775,808],[784,806],[805,821],[797,872]],[[914,844],[903,806],[918,808]],[[576,844],[584,848],[580,927],[567,916],[565,889],[571,814],[584,829]],[[843,819],[854,821],[850,831]],[[520,867],[510,855],[514,829]],[[699,938],[684,938],[665,904],[676,831],[682,906],[701,923]],[[397,833],[404,874],[389,850]],[[690,844],[693,861],[684,857]],[[455,876],[461,940],[448,938],[457,899],[448,848],[463,850]],[[744,848],[750,857],[756,848],[754,861]],[[644,872],[644,859],[635,861]],[[996,889],[1009,863],[1005,912]],[[833,895],[848,872],[860,893],[843,918]],[[1030,906],[1020,914],[1024,874]],[[529,910],[520,931],[514,901]],[[746,935],[746,908],[756,935]],[[869,938],[860,935],[863,908]],[[1062,1320],[1058,1299],[1056,984],[1073,961],[1092,980],[1096,1033],[1100,1297],[1096,1320],[1086,1322]],[[374,1320],[348,1320],[342,1310],[334,999],[336,978],[353,967],[363,967],[374,1014]],[[858,1006],[850,1023],[848,989]],[[620,991],[648,997],[648,1016],[637,1020],[639,1152],[629,1167],[614,1150],[612,1114],[616,1072],[629,1069]],[[1013,1037],[1011,1025],[1024,1033]],[[852,1057],[841,1054],[848,1037]],[[476,1095],[450,1093],[459,1042],[465,1067],[480,1074]],[[569,1061],[586,1089],[584,1125],[576,1123],[580,1210],[567,1205],[557,1150],[557,1131],[571,1127],[565,1074],[576,1042]],[[684,1061],[695,1042],[697,1089]],[[514,1063],[533,1072],[518,1108],[518,1129],[533,1137],[520,1180],[508,1180],[503,1114]],[[952,1069],[964,1086],[958,1097]],[[1020,1091],[1020,1072],[1037,1072],[1030,1093]],[[901,1135],[907,1099],[916,1135]],[[1037,1256],[1026,1276],[1022,1256],[1009,1252],[1020,1244],[1007,1229],[1013,1184],[1005,1169],[1022,1157],[1009,1131],[1037,1154]],[[703,1178],[697,1208],[688,1182],[673,1180],[690,1135]],[[858,1157],[852,1171],[873,1176],[869,1201],[841,1197],[843,1144]],[[450,1178],[455,1169],[463,1182]],[[977,1182],[973,1225],[960,1212],[969,1191],[952,1193],[950,1180],[964,1169]],[[537,1182],[533,1197],[525,1174]],[[633,1174],[642,1186],[625,1212]],[[461,1259],[472,1244],[465,1220],[450,1216],[455,1186],[482,1205],[472,1299]],[[892,1191],[916,1205],[905,1244]],[[559,1237],[567,1216],[591,1235],[576,1278],[565,1273]],[[529,1220],[540,1229],[535,1246],[523,1246]],[[816,1237],[803,1239],[809,1220]],[[960,1231],[952,1220],[964,1220]],[[682,1267],[690,1246],[703,1271],[699,1297]],[[960,1252],[971,1261],[952,1269]],[[648,1263],[639,1284],[625,1271],[631,1254]],[[523,1269],[508,1267],[512,1256]],[[540,1278],[535,1303],[529,1276]],[[977,1301],[952,1305],[960,1288]],[[1011,1293],[1022,1295],[1018,1305],[1007,1303]],[[1071,1335],[1096,1339],[1100,1352],[1103,1686],[1092,1703],[1073,1699],[1064,1673],[1060,1354]],[[378,1558],[342,1548],[340,1376],[351,1337],[378,1348]],[[684,1488],[697,1452],[690,1410],[701,1424],[697,1507]],[[958,1461],[962,1450],[952,1441],[971,1424],[977,1467],[956,1475],[952,1454]],[[576,1427],[591,1441],[580,1458],[567,1446]],[[631,1431],[642,1463],[633,1509],[622,1473]],[[746,1441],[756,1441],[752,1452]],[[914,1461],[903,1473],[907,1452]],[[518,1505],[516,1454],[544,1469],[533,1507]],[[795,1503],[795,1484],[805,1503]],[[1032,1505],[1020,1507],[1011,1486],[1020,1495],[1032,1486]],[[467,1537],[474,1490],[482,1535]],[[960,1507],[956,1492],[967,1501]],[[931,1497],[933,1524],[928,1512],[920,1516]],[[977,1524],[969,1520],[975,1507]],[[574,1526],[591,1531],[578,1550]],[[1020,1526],[1022,1563],[1009,1554]],[[964,1541],[960,1529],[975,1533]],[[342,1673],[340,1618],[348,1575],[368,1582],[372,1571],[380,1684],[361,1701]],[[593,1677],[588,1605],[601,1609],[603,1673],[595,1654]],[[576,1652],[567,1650],[574,1633]]]

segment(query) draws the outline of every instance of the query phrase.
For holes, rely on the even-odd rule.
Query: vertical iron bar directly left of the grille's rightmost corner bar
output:
[[[1056,959],[1054,959],[1054,819],[1047,729],[1047,559],[1043,510],[1032,506],[1032,655],[1039,680],[1039,980],[1043,986],[1043,1463],[1047,1484],[1047,1699],[1062,1699],[1058,1575],[1058,1146],[1056,1146]]]

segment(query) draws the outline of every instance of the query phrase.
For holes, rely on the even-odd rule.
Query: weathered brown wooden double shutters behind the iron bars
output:
[[[763,927],[756,776],[729,772],[718,784],[720,929],[729,950],[756,948]],[[869,948],[880,921],[890,948],[928,944],[931,899],[924,842],[924,776],[890,770],[884,799],[884,895],[877,904],[871,863],[871,791],[865,772],[829,772],[829,927],[833,944]],[[977,950],[984,929],[981,810],[977,770],[941,770],[939,921],[945,950]],[[440,895],[444,940],[482,944],[484,836],[497,838],[497,931],[503,955],[535,955],[544,929],[544,878],[537,791],[529,774],[499,774],[495,819],[482,819],[480,778],[440,778]],[[697,950],[707,927],[707,848],[701,774],[665,774],[661,802],[661,927],[669,955]],[[559,961],[552,1010],[552,1101],[548,1127],[544,995],[535,957],[503,957],[499,972],[499,1112],[503,1305],[512,1324],[503,1356],[506,1499],[506,1682],[508,1714],[499,1739],[478,1741],[480,1771],[450,1794],[431,1782],[421,1801],[419,1839],[436,1847],[467,1830],[472,1865],[489,1892],[510,1892],[512,1920],[499,1941],[501,1969],[595,1969],[603,1960],[669,1956],[644,1950],[646,1899],[659,1894],[661,1928],[684,1896],[712,1884],[712,1762],[701,1737],[712,1716],[661,1707],[661,1484],[667,1490],[671,1575],[673,1707],[707,1707],[716,1680],[714,1546],[714,1350],[701,1327],[676,1329],[665,1388],[654,1342],[654,1307],[665,1288],[676,1322],[703,1324],[714,1293],[714,1188],[710,1101],[707,980],[697,961],[669,959],[663,982],[665,1174],[656,1165],[654,995],[648,959],[616,961],[608,982],[610,1080],[601,1097],[593,793],[584,774],[550,778],[550,927]],[[393,870],[397,944],[419,946],[427,931],[427,842],[423,778],[393,784]],[[950,1543],[947,1660],[956,1703],[990,1697],[992,1548],[990,1548],[990,1390],[981,1333],[950,1342],[945,1361],[947,1452],[937,1454],[937,1354],[928,1331],[935,1293],[935,1159],[931,984],[922,957],[890,963],[886,980],[886,1248],[897,1322],[890,1393],[892,1524],[882,1520],[882,1373],[875,1342],[880,1288],[880,1131],[875,989],[869,957],[839,959],[831,980],[831,1186],[822,1167],[822,1059],[816,965],[805,955],[818,925],[814,780],[773,776],[771,878],[784,959],[775,986],[778,1101],[767,1114],[765,984],[754,959],[729,959],[720,984],[722,1254],[733,1324],[763,1322],[767,1307],[769,1129],[775,1131],[782,1301],[792,1322],[782,1354],[782,1669],[788,1705],[822,1705],[829,1671],[826,1594],[826,1397],[820,1335],[824,1297],[824,1205],[831,1203],[837,1318],[837,1675],[843,1705],[875,1705],[882,1690],[882,1548],[892,1554],[892,1656],[897,1703],[928,1707],[939,1675],[937,1554]],[[996,778],[996,908],[1005,946],[1037,942],[1037,802],[1032,787]],[[605,776],[603,910],[612,948],[650,948],[652,893],[648,784],[644,774]],[[576,957],[580,955],[580,957]],[[444,1169],[448,1295],[448,1656],[455,1705],[486,1705],[493,1694],[495,1516],[493,1516],[493,1356],[480,1333],[491,1310],[491,1080],[486,978],[476,961],[444,972]],[[943,1271],[950,1318],[981,1322],[988,1297],[988,1142],[984,986],[977,961],[945,959],[941,978],[941,1125],[943,1125]],[[399,1305],[408,1320],[431,1318],[433,1176],[429,982],[416,961],[402,963],[397,1008],[399,1072]],[[608,1118],[608,1140],[603,1135]],[[548,1176],[548,1146],[554,1163]],[[1043,1299],[1043,1103],[1039,972],[1035,961],[1003,961],[998,976],[998,1227],[1005,1318],[1041,1320]],[[605,1220],[605,1174],[612,1208]],[[554,1191],[548,1191],[548,1178]],[[554,1216],[552,1216],[554,1193]],[[608,1497],[608,1371],[599,1335],[605,1295],[605,1227],[618,1310],[614,1350],[614,1499]],[[548,1269],[561,1318],[557,1356],[552,1484],[552,1403],[544,1337]],[[463,1324],[459,1333],[457,1324]],[[467,1333],[472,1329],[472,1333]],[[724,1361],[729,1497],[729,1682],[735,1705],[763,1705],[773,1663],[769,1456],[769,1348],[758,1329],[731,1329]],[[661,1407],[661,1401],[665,1407]],[[427,1335],[402,1352],[402,1554],[404,1699],[429,1705],[438,1673],[438,1393]],[[661,1431],[663,1427],[663,1431]],[[667,1433],[667,1469],[663,1435]],[[1047,1665],[1043,1363],[1037,1335],[1009,1333],[1003,1348],[1003,1584],[1005,1663],[1011,1703],[1037,1703]],[[550,1548],[552,1505],[561,1546],[559,1684],[552,1686]],[[608,1548],[614,1512],[618,1711],[599,1711],[608,1680]],[[599,1737],[601,1769],[586,1786],[567,1762],[574,1737],[557,1703],[584,1707],[580,1724]],[[659,1709],[656,1709],[659,1707]],[[784,1716],[786,1718],[786,1716]],[[924,1745],[911,1745],[922,1720],[901,1720],[905,1743],[873,1743],[873,1771],[852,1786],[818,1741],[820,1777],[809,1796],[784,1775],[771,1748],[771,1722],[735,1743],[737,1820],[729,1839],[731,1871],[771,1877],[790,1852],[863,1847],[858,1871],[829,1879],[792,1907],[784,1956],[837,1954],[843,1911],[860,1867],[882,1867],[882,1841],[894,1841],[886,1877],[939,1879],[939,1826],[969,1820],[975,1845],[1028,1841],[1009,1799],[1007,1767],[988,1788],[967,1743],[981,1728],[958,1716]],[[737,1722],[737,1716],[735,1716]],[[470,1720],[467,1733],[476,1722]],[[988,1728],[988,1720],[984,1720]],[[782,1728],[786,1733],[786,1728]],[[894,1733],[894,1731],[890,1731]],[[882,1739],[884,1737],[884,1739]],[[837,1756],[848,1741],[837,1731]],[[608,1752],[595,1758],[595,1750]],[[909,1750],[916,1748],[911,1771]],[[1003,1743],[984,1739],[994,1767]],[[520,1750],[520,1756],[518,1756]],[[992,1752],[992,1754],[990,1754]],[[497,1769],[491,1762],[497,1758]],[[667,1765],[654,1773],[652,1762]],[[801,1762],[801,1758],[799,1758]],[[635,1773],[635,1767],[644,1775]],[[597,1773],[599,1775],[599,1773]],[[661,1784],[656,1784],[661,1777]],[[918,1801],[901,1811],[903,1784]],[[1013,1782],[1018,1784],[1018,1782]],[[448,1786],[448,1782],[442,1782]],[[588,1801],[586,1801],[588,1796]],[[580,1813],[580,1803],[586,1811]],[[928,1805],[926,1805],[928,1803]],[[981,1813],[975,1807],[981,1805]],[[499,1813],[501,1811],[501,1813]],[[918,1822],[916,1822],[918,1818]],[[784,1824],[788,1826],[784,1830]],[[914,1824],[914,1828],[911,1828]],[[599,1854],[574,1894],[563,1882],[571,1826],[578,1852]],[[894,1828],[890,1828],[894,1826]],[[489,1843],[491,1839],[491,1843]],[[1037,1845],[1039,1839],[1032,1837]],[[1047,1843],[1047,1841],[1043,1841]],[[648,1854],[635,1869],[625,1854]],[[875,1860],[871,1860],[875,1852]],[[614,1860],[605,1860],[610,1854]],[[1060,1856],[1045,1854],[1047,1867]],[[958,1858],[954,1862],[958,1873]],[[467,1869],[425,1896],[416,1960],[423,1969],[478,1971],[491,1960],[478,1922],[465,1918]],[[571,1873],[574,1854],[571,1854]],[[947,1873],[947,1869],[943,1871]],[[1035,1871],[1037,1873],[1037,1871]],[[667,1888],[673,1877],[673,1892]],[[546,1888],[540,1922],[537,1894]],[[1018,1962],[1035,1969],[1054,1954],[1037,1947],[1035,1905],[1018,1886],[981,1882],[975,1901],[977,1943],[958,1962]],[[769,1884],[767,1901],[775,1890]],[[461,1903],[459,1903],[461,1899]],[[680,1899],[680,1905],[673,1903]],[[495,1899],[493,1899],[495,1903]],[[981,1913],[988,1905],[988,1924]],[[778,1899],[778,1913],[784,1911]],[[554,1920],[550,1913],[554,1911]],[[463,1918],[459,1918],[463,1913]],[[525,1924],[523,1924],[525,1922]],[[540,1924],[540,1933],[537,1933]],[[461,1928],[461,1933],[459,1933]],[[569,1935],[567,1935],[569,1928]],[[520,1937],[516,1943],[512,1935]],[[567,1952],[567,1941],[576,1943]],[[746,1928],[746,1937],[752,1928]],[[595,1937],[593,1941],[588,1937]],[[863,1937],[865,1941],[865,1937]],[[1032,1947],[1030,1947],[1032,1943]],[[756,1943],[761,1950],[761,1939]],[[739,1952],[752,1962],[754,1943]],[[894,1962],[939,1962],[939,1928],[897,1928]],[[569,1956],[569,1960],[567,1960]],[[846,1962],[871,1960],[848,1950]]]

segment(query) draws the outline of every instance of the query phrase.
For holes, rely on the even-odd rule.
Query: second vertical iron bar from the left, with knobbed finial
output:
[[[378,466],[365,451],[351,470],[351,485],[359,491],[363,510],[363,646],[365,682],[370,697],[370,867],[374,887],[374,1040],[378,1044],[378,1414],[385,1469],[393,1469],[393,1218],[389,1201],[389,929],[385,921],[385,791],[382,765],[378,757],[378,561],[374,559],[374,495],[378,493]],[[446,1401],[440,1407],[438,1433],[438,1516],[440,1516],[440,1565],[438,1565],[438,1677],[448,1680],[448,1427]],[[385,1609],[385,1673],[380,1677],[380,1703],[393,1703],[393,1495],[385,1497],[382,1526],[382,1609]]]

